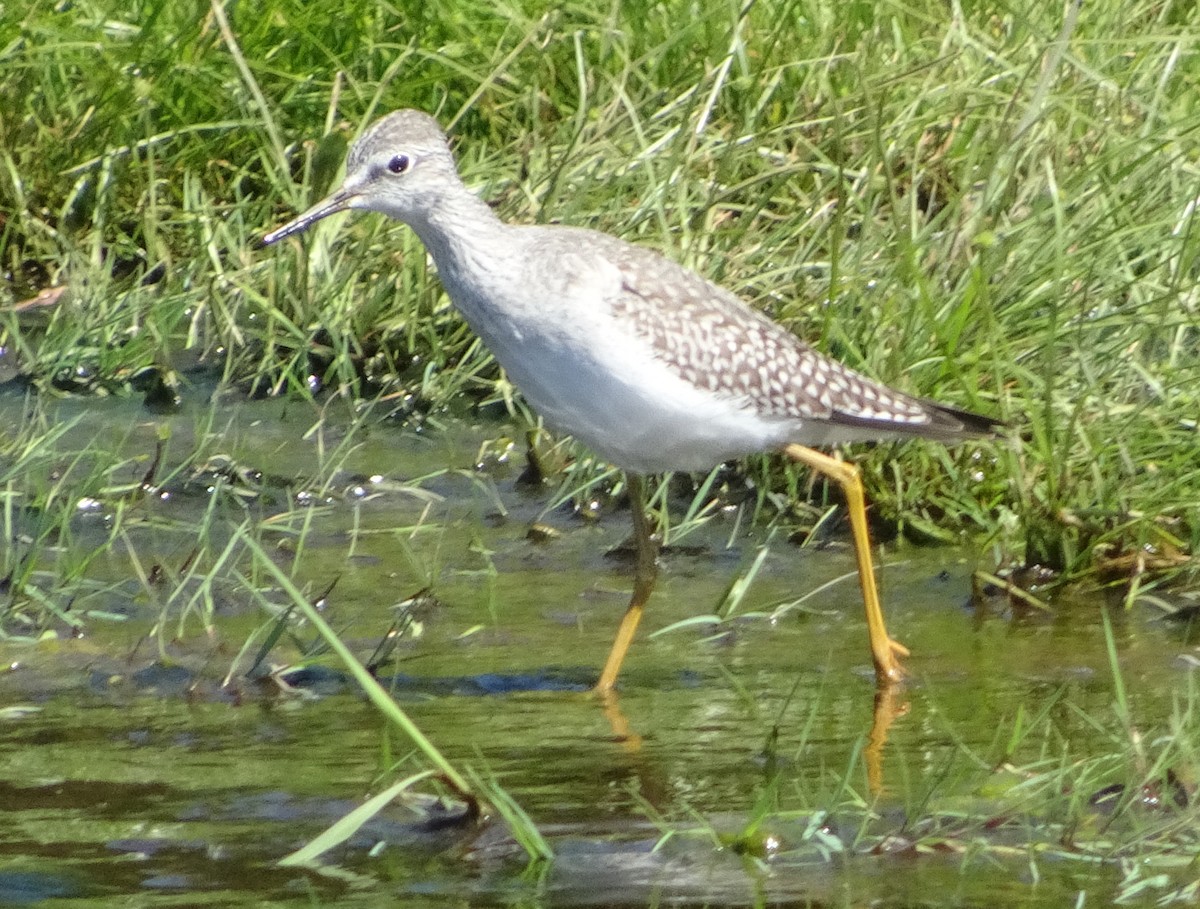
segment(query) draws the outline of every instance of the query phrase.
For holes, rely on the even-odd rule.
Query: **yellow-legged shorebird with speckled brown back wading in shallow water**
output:
[[[419,110],[374,121],[350,148],[342,185],[263,242],[352,209],[415,230],[450,300],[534,410],[625,470],[637,567],[599,691],[616,685],[654,588],[642,477],[768,450],[841,487],[876,680],[886,688],[902,678],[908,651],[883,621],[858,468],[809,446],[950,443],[988,435],[996,421],[859,375],[652,249],[584,228],[506,224],[467,188],[442,127]]]

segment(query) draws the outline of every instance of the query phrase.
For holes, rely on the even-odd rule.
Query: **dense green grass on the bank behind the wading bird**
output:
[[[882,525],[970,531],[1068,579],[1195,577],[1194,5],[2,17],[0,345],[38,389],[187,395],[182,361],[414,416],[521,408],[404,228],[350,217],[258,248],[365,122],[412,106],[452,127],[505,217],[661,248],[851,366],[1013,427],[856,452]],[[54,285],[58,303],[12,308]],[[746,470],[809,492],[774,460]]]

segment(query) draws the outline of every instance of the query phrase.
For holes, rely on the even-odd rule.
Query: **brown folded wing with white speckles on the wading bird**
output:
[[[877,427],[881,437],[938,427],[937,411],[925,402],[822,356],[680,265],[624,243],[608,253],[623,275],[614,314],[694,385],[782,420]]]

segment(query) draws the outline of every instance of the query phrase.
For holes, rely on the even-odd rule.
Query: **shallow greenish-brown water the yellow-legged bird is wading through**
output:
[[[10,423],[25,407],[0,405]],[[480,445],[503,427],[414,433],[368,421],[352,431],[330,411],[313,431],[318,416],[280,401],[172,417],[130,401],[53,405],[53,421],[77,421],[66,449],[98,439],[120,450],[131,482],[162,426],[168,464],[200,447],[268,476],[254,496],[218,506],[202,481],[168,484],[172,494],[139,506],[89,566],[89,583],[64,594],[74,612],[119,621],[94,618],[76,639],[0,644],[10,667],[0,675],[0,904],[1061,907],[1106,904],[1117,892],[1116,862],[972,850],[970,837],[941,850],[876,848],[878,833],[912,832],[906,819],[931,806],[979,799],[1019,717],[1046,708],[1033,738],[1049,745],[1025,744],[1016,760],[1063,742],[1076,757],[1111,746],[1098,596],[1049,616],[979,614],[968,604],[977,554],[888,552],[883,596],[893,633],[913,651],[912,679],[872,796],[860,750],[874,679],[853,577],[803,610],[766,618],[852,572],[848,547],[734,534],[732,513],[689,535],[664,559],[646,633],[606,709],[586,690],[628,597],[628,566],[607,555],[628,534],[628,513],[544,514],[551,490],[522,487],[520,464],[475,474]],[[292,676],[299,694],[245,678],[251,660],[239,650],[269,624],[245,592],[215,583],[211,626],[180,621],[133,578],[128,553],[143,570],[182,571],[210,508],[223,510],[205,531],[220,548],[222,522],[271,524],[289,504],[299,512],[264,540],[280,542],[281,560],[311,590],[336,579],[325,614],[360,656],[385,634],[395,604],[432,586],[422,633],[400,643],[384,680],[451,761],[494,777],[532,815],[557,854],[548,867],[527,869],[498,824],[431,823],[401,807],[320,869],[275,866],[359,803],[407,746],[383,733],[329,657]],[[83,510],[54,558],[103,544],[112,510]],[[302,534],[296,513],[308,522]],[[534,520],[557,532],[529,540]],[[712,613],[763,543],[739,618],[653,633]],[[148,638],[164,608],[169,632]],[[1136,720],[1153,728],[1188,685],[1181,656],[1190,648],[1151,615],[1114,620]],[[295,658],[290,646],[271,658]],[[757,841],[768,845],[757,859],[739,855],[721,837],[745,827],[764,793]],[[830,812],[824,850],[812,845],[814,811]],[[983,839],[1006,837],[1020,839]]]

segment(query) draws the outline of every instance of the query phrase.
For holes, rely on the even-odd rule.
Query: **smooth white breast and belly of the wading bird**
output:
[[[439,261],[439,272],[470,327],[552,428],[640,474],[707,470],[778,447],[798,428],[702,391],[660,362],[635,326],[613,314],[622,284],[613,265],[570,253],[545,261],[542,252],[533,245],[528,259],[510,254],[486,267],[467,267],[463,253],[445,267]]]

